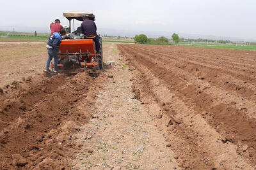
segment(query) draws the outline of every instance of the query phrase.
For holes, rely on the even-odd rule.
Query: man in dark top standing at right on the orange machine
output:
[[[93,39],[95,43],[96,53],[99,53],[99,67],[102,69],[103,63],[102,63],[102,50],[100,48],[100,37],[97,34],[97,27],[93,20],[90,20],[89,17],[84,16],[83,22],[81,24],[81,31],[84,34],[84,38],[86,39]]]

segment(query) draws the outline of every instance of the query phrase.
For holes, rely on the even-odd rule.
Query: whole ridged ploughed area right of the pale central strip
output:
[[[118,45],[184,169],[256,168],[256,52]],[[159,111],[160,110],[160,111]]]

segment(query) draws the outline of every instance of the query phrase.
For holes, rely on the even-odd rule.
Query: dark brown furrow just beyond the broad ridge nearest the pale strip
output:
[[[169,70],[164,69],[157,66],[155,62],[147,60],[148,57],[145,58],[143,55],[138,54],[141,52],[137,52],[135,49],[126,50],[129,51],[129,57],[138,60],[143,66],[148,67],[154,73],[154,76],[164,82],[165,87],[170,89],[189,107],[192,107],[193,110],[202,114],[208,124],[220,132],[224,138],[223,142],[230,141],[237,146],[241,145],[241,143],[248,145],[250,148],[249,154],[243,156],[250,164],[255,165],[255,160],[252,157],[252,155],[255,155],[254,141],[256,139],[254,119],[246,117],[244,111],[220,103],[218,99],[212,98],[211,95],[200,92],[193,85],[188,85],[188,82],[184,80],[184,82],[180,82],[180,78],[173,74],[172,67]]]

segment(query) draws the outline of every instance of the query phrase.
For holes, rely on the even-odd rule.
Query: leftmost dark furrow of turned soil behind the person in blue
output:
[[[65,76],[58,76],[51,80],[40,76],[39,79],[40,82],[38,80],[32,81],[32,77],[29,77],[23,82],[13,81],[10,85],[5,85],[3,89],[4,96],[0,98],[2,103],[0,110],[3,112],[1,120],[4,124],[8,124],[20,115],[31,111],[36,103],[40,103],[42,96],[51,94],[60,86],[60,83],[56,83],[56,81],[65,79]],[[4,125],[1,124],[0,131],[3,127]]]

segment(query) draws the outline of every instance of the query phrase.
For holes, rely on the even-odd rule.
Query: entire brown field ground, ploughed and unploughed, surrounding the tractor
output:
[[[103,47],[46,78],[45,43],[0,44],[0,169],[256,168],[256,52]]]

